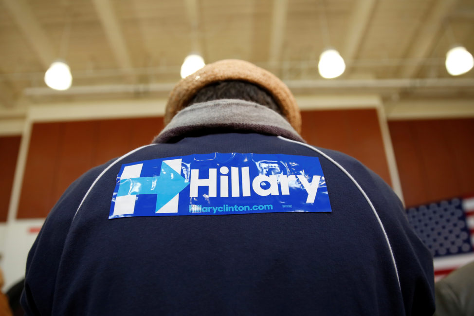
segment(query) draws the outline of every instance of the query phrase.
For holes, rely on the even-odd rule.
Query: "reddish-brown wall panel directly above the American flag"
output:
[[[407,206],[474,193],[474,119],[389,122]]]

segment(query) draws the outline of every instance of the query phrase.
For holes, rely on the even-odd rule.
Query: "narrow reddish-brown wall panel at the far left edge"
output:
[[[21,136],[0,137],[0,222],[6,222]]]

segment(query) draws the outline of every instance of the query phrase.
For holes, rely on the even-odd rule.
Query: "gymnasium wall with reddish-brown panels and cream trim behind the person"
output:
[[[163,128],[163,106],[119,109],[114,115],[70,115],[71,109],[48,115],[54,107],[38,107],[29,112],[23,130],[0,135],[4,289],[24,275],[28,249],[67,186],[91,167],[149,144]],[[390,120],[380,102],[306,106],[302,117],[302,136],[309,144],[357,158],[407,206],[474,193],[473,117]]]

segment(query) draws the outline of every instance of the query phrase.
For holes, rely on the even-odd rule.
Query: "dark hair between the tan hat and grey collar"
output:
[[[282,114],[273,97],[264,89],[250,82],[229,80],[218,81],[202,88],[186,105],[219,99],[240,99],[266,106]]]

